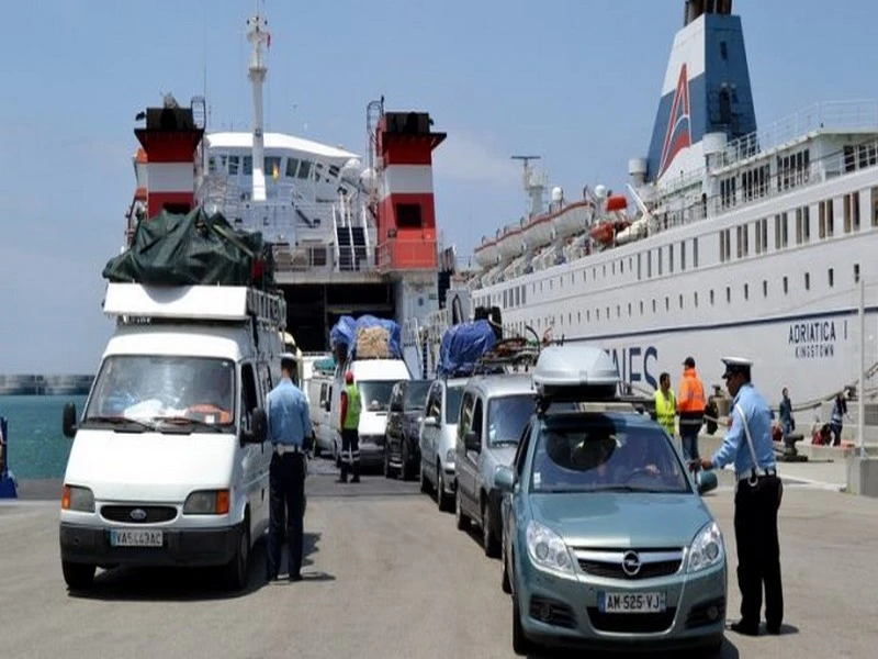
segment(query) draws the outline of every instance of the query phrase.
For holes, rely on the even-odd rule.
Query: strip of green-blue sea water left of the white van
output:
[[[0,395],[0,416],[7,417],[9,469],[19,480],[61,478],[74,440],[61,432],[66,403],[77,416],[85,395]]]

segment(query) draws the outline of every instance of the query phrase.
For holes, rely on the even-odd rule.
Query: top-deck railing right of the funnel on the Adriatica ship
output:
[[[723,165],[733,165],[820,130],[878,130],[878,101],[828,101],[809,105],[766,129],[729,142]]]

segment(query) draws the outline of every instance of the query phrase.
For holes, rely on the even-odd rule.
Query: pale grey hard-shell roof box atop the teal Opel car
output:
[[[540,398],[587,402],[616,398],[621,382],[612,358],[596,346],[549,346],[533,369]]]

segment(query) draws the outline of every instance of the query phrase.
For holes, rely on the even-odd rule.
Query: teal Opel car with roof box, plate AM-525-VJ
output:
[[[505,493],[503,588],[513,596],[515,651],[719,651],[725,548],[700,496],[716,476],[694,480],[662,427],[615,395],[606,353],[544,353],[545,368],[538,362],[533,376],[539,412],[511,467],[495,473]],[[577,365],[566,380],[565,364]],[[606,367],[604,380],[583,364]],[[552,378],[562,384],[551,387]],[[553,400],[576,398],[576,410],[553,411]]]

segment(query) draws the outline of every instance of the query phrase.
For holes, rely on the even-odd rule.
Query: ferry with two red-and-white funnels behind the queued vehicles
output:
[[[303,353],[328,350],[341,315],[398,323],[439,308],[432,150],[446,137],[427,112],[367,107],[369,153],[266,131],[268,19],[247,20],[252,126],[212,132],[203,97],[181,107],[167,94],[138,114],[136,191],[127,241],[162,210],[201,206],[272,244],[286,326]]]

